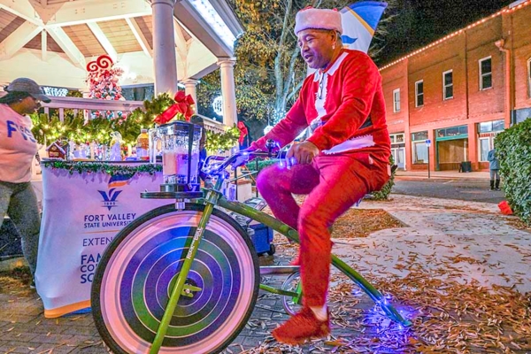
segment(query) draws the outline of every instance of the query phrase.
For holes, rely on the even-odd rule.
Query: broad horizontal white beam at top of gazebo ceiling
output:
[[[46,26],[73,26],[86,22],[148,16],[151,13],[151,6],[145,0],[119,2],[78,0],[63,4],[53,18],[46,23]]]

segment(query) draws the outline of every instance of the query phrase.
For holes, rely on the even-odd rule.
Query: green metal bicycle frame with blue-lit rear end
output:
[[[214,209],[214,206],[220,206],[231,212],[237,212],[238,214],[246,216],[250,219],[257,220],[258,222],[266,225],[267,227],[271,227],[273,228],[273,230],[278,231],[282,235],[285,235],[290,240],[297,243],[300,242],[299,235],[296,230],[284,224],[280,220],[273,218],[265,212],[260,212],[257,209],[254,209],[248,205],[227,200],[227,198],[223,196],[221,192],[218,191],[219,189],[221,189],[222,184],[223,178],[219,178],[218,181],[216,181],[215,187],[213,189],[204,189],[204,198],[196,202],[205,205],[204,212],[201,216],[201,219],[199,220],[199,225],[196,229],[196,233],[194,234],[190,242],[189,251],[182,265],[181,272],[177,276],[177,281],[173,286],[172,294],[170,296],[164,315],[162,317],[162,320],[160,321],[160,325],[157,330],[157,335],[155,336],[155,340],[151,345],[150,354],[157,354],[158,350],[160,350],[160,347],[162,346],[162,342],[164,341],[167,328],[172,319],[175,307],[177,306],[177,303],[181,298],[182,291],[185,287],[185,281],[188,277],[192,262],[194,261],[194,258],[196,258],[197,248],[199,246],[199,243],[203,239],[204,229],[206,228],[206,225],[208,224],[208,221],[212,215],[212,210]],[[352,281],[358,284],[359,288],[366,292],[366,294],[371,297],[374,303],[379,304],[382,311],[388,315],[389,319],[393,319],[394,321],[402,324],[404,327],[409,327],[412,325],[412,322],[408,319],[404,319],[402,315],[400,315],[400,313],[398,313],[396,309],[387,302],[385,297],[381,295],[380,291],[375,289],[370,282],[366,281],[366,279],[361,276],[361,274],[356,272],[354,269],[344,263],[340,258],[337,258],[334,255],[332,255],[332,264],[342,273],[347,275]],[[260,284],[260,289],[264,289],[274,294],[279,294],[283,296],[292,296],[296,303],[299,302],[301,296],[300,285],[299,287],[297,287],[297,292],[275,289],[265,284]]]

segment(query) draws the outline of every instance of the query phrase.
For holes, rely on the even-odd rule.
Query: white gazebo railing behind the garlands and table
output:
[[[44,113],[50,114],[50,109],[58,110],[58,117],[61,121],[65,119],[65,110],[73,110],[73,114],[80,111],[85,111],[85,117],[89,117],[89,111],[103,111],[114,112],[116,116],[118,112],[135,111],[138,107],[143,107],[142,101],[107,101],[93,98],[79,98],[79,97],[56,97],[52,96],[50,104],[42,102]],[[225,132],[225,125],[218,121],[198,114],[204,119],[204,127],[215,133]]]

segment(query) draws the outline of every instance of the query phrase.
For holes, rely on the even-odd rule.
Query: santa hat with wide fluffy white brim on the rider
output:
[[[331,29],[342,34],[341,13],[337,10],[306,7],[296,13],[295,34],[308,28]]]

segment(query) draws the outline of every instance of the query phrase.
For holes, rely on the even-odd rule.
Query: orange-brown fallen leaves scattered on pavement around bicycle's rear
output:
[[[365,237],[387,227],[400,227],[380,210],[351,209],[334,226],[335,238]],[[388,214],[389,215],[389,214]],[[384,220],[378,227],[378,220]],[[373,226],[367,220],[374,220]],[[396,225],[396,223],[398,225]],[[387,226],[387,227],[386,227]],[[280,242],[279,256],[293,257],[296,244]],[[414,253],[414,252],[412,252]],[[282,261],[282,260],[281,260]],[[269,337],[247,354],[258,353],[528,353],[531,350],[531,293],[511,287],[483,287],[463,282],[458,263],[481,259],[447,257],[440,265],[423,266],[416,257],[401,258],[406,276],[367,275],[376,289],[412,321],[401,327],[390,321],[358,286],[341,273],[332,273],[328,305],[332,335],[303,346],[289,346]],[[356,265],[350,265],[356,268]],[[339,334],[339,335],[337,335]]]

